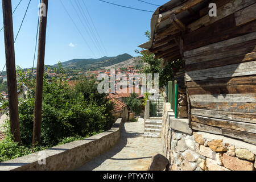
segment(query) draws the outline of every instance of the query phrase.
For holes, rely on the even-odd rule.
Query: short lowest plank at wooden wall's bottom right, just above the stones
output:
[[[232,129],[221,129],[221,131],[222,131],[222,135],[226,135],[232,138],[242,139],[245,142],[256,144],[256,134],[254,133],[248,133],[245,131],[237,131]]]

